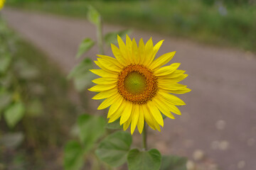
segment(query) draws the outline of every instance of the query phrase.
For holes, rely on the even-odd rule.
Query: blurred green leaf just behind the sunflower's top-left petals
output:
[[[104,40],[105,42],[110,45],[117,43],[117,35],[119,35],[122,39],[125,38],[125,35],[129,35],[132,32],[132,30],[121,30],[121,31],[117,31],[117,32],[112,32],[112,33],[107,33],[104,36]]]

